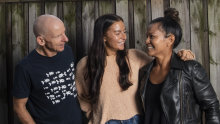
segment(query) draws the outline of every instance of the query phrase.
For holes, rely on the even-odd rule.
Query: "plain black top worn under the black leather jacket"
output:
[[[163,83],[152,84],[150,80],[147,83],[144,124],[167,124],[160,102]]]

